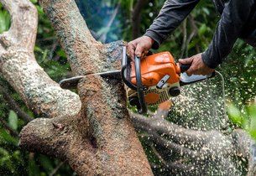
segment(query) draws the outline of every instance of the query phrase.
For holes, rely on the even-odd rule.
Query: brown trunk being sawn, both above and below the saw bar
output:
[[[76,75],[120,68],[123,43],[97,43],[74,1],[40,3]],[[128,119],[120,80],[89,75],[81,80],[78,91],[83,105],[79,115],[30,122],[21,132],[20,146],[66,160],[80,175],[151,175]]]

